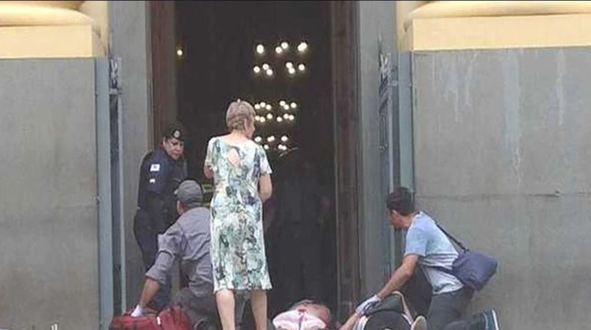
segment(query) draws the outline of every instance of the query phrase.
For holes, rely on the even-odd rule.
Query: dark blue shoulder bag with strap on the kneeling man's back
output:
[[[456,258],[454,263],[451,264],[451,270],[441,266],[434,266],[434,268],[456,276],[462,284],[471,289],[482,289],[497,272],[498,261],[491,256],[465,248],[460,241],[448,234],[440,225],[438,225],[438,223],[436,223],[436,225],[447,237],[449,237],[449,239],[451,239],[451,241],[454,241],[461,250],[458,251],[458,258]]]

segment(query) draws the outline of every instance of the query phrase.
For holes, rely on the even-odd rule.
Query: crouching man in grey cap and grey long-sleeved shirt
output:
[[[173,304],[183,307],[192,329],[214,329],[219,324],[213,295],[210,259],[210,210],[201,207],[203,194],[196,181],[183,181],[176,191],[177,212],[181,214],[164,234],[158,236],[156,261],[146,273],[144,288],[131,316],[144,315],[146,305],[172,272],[175,258],[188,276],[188,287],[181,289]]]

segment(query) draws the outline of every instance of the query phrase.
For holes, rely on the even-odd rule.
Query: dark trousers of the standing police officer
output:
[[[153,225],[150,222],[150,214],[141,208],[137,209],[135,217],[133,218],[133,234],[135,235],[137,245],[140,245],[144,268],[145,271],[148,272],[150,267],[154,265],[158,254],[158,232],[153,229]],[[160,289],[154,298],[152,298],[152,301],[148,306],[157,311],[166,307],[170,300],[171,289],[172,278],[168,275],[166,276],[166,283],[160,285]]]

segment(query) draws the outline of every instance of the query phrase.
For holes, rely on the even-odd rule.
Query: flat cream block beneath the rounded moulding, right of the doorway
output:
[[[465,50],[591,45],[591,14],[413,19],[405,50]]]

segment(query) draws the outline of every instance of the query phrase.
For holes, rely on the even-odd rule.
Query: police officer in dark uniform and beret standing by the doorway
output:
[[[158,252],[158,234],[162,234],[177,219],[175,190],[187,177],[183,158],[185,132],[179,123],[167,126],[161,146],[142,159],[140,185],[137,192],[137,212],[133,233],[142,251],[144,267],[152,267]],[[150,305],[160,310],[168,303],[172,283],[168,276]]]

